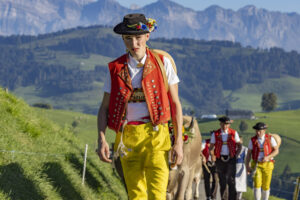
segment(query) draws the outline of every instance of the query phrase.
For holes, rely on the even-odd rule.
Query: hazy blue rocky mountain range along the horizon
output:
[[[237,11],[210,6],[203,11],[170,0],[129,9],[116,0],[3,0],[1,35],[37,35],[77,26],[113,26],[126,13],[157,20],[153,37],[229,40],[244,46],[300,50],[300,15],[246,6]]]

